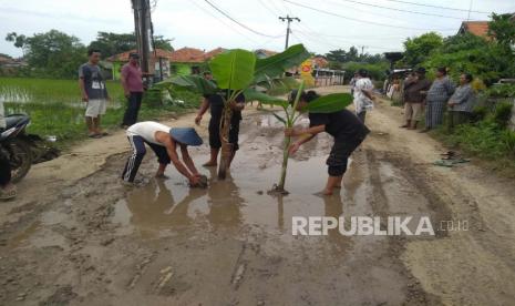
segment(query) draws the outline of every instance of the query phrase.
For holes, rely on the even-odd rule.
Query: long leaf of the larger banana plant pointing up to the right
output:
[[[286,70],[301,64],[310,57],[311,54],[302,44],[295,44],[281,53],[266,59],[258,59],[256,61],[254,82],[258,83],[267,79],[280,76]]]

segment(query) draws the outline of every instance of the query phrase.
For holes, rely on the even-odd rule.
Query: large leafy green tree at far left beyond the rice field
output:
[[[6,39],[25,50],[29,67],[39,76],[75,78],[79,65],[86,61],[86,49],[80,40],[58,30],[32,37],[10,33]]]

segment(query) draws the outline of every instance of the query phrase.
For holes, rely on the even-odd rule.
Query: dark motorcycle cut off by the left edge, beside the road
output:
[[[20,182],[33,163],[48,161],[59,155],[49,147],[38,135],[28,134],[25,129],[30,124],[27,114],[11,114],[6,116],[6,129],[0,132],[0,154],[9,160],[11,165],[11,182]]]

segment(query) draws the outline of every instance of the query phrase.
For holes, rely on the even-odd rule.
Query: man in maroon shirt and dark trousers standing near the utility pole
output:
[[[128,63],[122,68],[122,86],[127,98],[127,109],[123,115],[122,128],[126,129],[137,122],[137,113],[142,105],[143,79],[140,68],[140,54],[128,54]]]

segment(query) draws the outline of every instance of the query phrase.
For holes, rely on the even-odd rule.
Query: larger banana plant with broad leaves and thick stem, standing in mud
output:
[[[222,94],[224,115],[220,122],[222,156],[218,177],[223,180],[226,176],[233,152],[233,144],[228,142],[230,118],[233,116],[230,102],[246,90],[274,86],[277,80],[282,78],[286,70],[299,65],[309,57],[310,53],[302,44],[292,45],[284,52],[266,59],[256,59],[254,52],[241,49],[228,50],[216,55],[209,62],[209,69],[216,82],[198,75],[181,75],[163,81],[157,85],[168,90],[174,86],[185,88],[202,94],[227,93],[226,95]],[[259,99],[264,101],[275,100],[265,93],[260,93]],[[256,100],[260,101],[259,99]],[[247,96],[246,100],[251,101]]]

